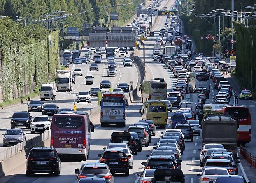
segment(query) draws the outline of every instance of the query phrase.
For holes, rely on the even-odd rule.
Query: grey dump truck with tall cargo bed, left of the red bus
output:
[[[202,122],[203,145],[223,144],[224,148],[237,155],[238,121],[228,115],[210,115]]]

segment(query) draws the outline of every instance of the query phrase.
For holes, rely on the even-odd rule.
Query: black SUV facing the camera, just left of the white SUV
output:
[[[30,123],[32,122],[32,116],[29,112],[14,112],[11,118],[11,128],[15,127],[27,127],[30,129]]]

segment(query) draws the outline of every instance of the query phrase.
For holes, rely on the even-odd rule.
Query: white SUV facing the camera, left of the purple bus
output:
[[[51,129],[51,122],[47,115],[36,115],[32,123],[30,124],[31,134],[35,132],[43,132]]]

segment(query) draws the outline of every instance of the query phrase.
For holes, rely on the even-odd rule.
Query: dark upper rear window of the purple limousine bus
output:
[[[83,124],[82,117],[56,116],[54,124],[60,128],[78,128]]]

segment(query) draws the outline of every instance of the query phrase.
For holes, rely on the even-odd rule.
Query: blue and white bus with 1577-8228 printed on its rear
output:
[[[120,124],[125,127],[128,100],[123,92],[106,92],[100,101],[100,125]]]

